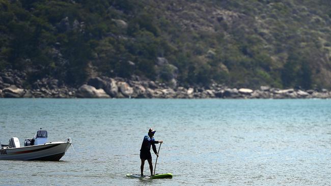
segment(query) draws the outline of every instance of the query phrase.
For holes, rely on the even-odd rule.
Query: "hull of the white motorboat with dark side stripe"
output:
[[[59,161],[70,147],[69,142],[0,149],[0,160]]]

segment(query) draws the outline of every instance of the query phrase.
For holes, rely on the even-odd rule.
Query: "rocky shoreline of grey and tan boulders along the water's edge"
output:
[[[161,98],[161,99],[329,99],[331,91],[279,89],[261,86],[260,89],[230,88],[222,84],[176,86],[150,80],[92,77],[78,88],[63,85],[59,80],[43,78],[24,88],[26,73],[9,70],[0,73],[0,98]]]

